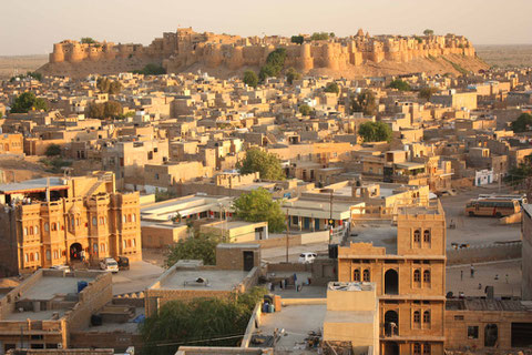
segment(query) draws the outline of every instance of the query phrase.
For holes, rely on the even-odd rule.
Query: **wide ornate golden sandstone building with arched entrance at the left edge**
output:
[[[115,191],[112,173],[0,185],[0,267],[17,275],[39,267],[142,258],[139,193]]]

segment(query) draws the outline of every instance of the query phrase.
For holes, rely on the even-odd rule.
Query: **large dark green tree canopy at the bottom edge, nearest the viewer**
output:
[[[267,290],[253,287],[229,298],[171,301],[141,325],[143,355],[172,355],[182,345],[236,346]],[[165,345],[168,344],[168,345]]]

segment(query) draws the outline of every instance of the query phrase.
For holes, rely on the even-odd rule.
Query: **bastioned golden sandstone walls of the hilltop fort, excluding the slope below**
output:
[[[180,72],[196,63],[207,68],[225,67],[234,71],[243,67],[262,67],[276,48],[286,49],[286,68],[294,67],[304,72],[317,68],[345,70],[365,62],[380,63],[385,60],[405,63],[418,58],[475,55],[471,42],[454,34],[369,37],[359,31],[357,36],[326,41],[310,41],[307,38],[303,44],[297,44],[282,37],[241,38],[211,32],[196,33],[187,28],[178,29],[175,33],[163,33],[163,38],[153,40],[147,47],[111,42],[88,44],[66,40],[53,45],[50,62],[142,59],[162,62],[168,72]]]

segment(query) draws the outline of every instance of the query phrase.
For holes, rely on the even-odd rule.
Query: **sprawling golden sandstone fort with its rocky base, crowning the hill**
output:
[[[224,77],[246,68],[260,68],[276,48],[286,49],[285,68],[294,67],[304,73],[326,70],[332,74],[340,71],[364,74],[364,68],[382,68],[386,71],[390,65],[402,72],[427,71],[423,61],[424,64],[429,61],[443,67],[447,63],[448,71],[452,72],[456,65],[449,63],[450,60],[441,60],[446,57],[459,60],[460,65],[467,70],[481,69],[483,65],[475,58],[472,43],[464,37],[454,34],[370,37],[359,30],[356,36],[328,40],[310,40],[306,36],[304,43],[298,44],[285,37],[242,38],[197,33],[192,28],[185,28],[177,29],[175,33],[163,33],[163,38],[153,40],[147,47],[65,40],[53,45],[50,62],[40,71],[84,75],[91,71],[114,73],[156,63],[163,65],[168,73],[203,69]],[[428,71],[430,70],[431,68]]]

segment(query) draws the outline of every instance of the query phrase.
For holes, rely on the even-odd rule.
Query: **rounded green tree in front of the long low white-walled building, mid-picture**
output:
[[[236,215],[247,222],[268,222],[268,230],[279,233],[285,230],[285,215],[280,202],[263,187],[241,195],[234,202]]]

